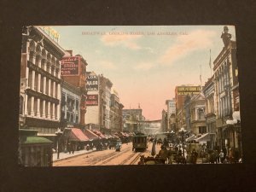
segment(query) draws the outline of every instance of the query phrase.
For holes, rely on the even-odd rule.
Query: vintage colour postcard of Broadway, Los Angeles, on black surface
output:
[[[20,166],[242,162],[235,26],[20,35]]]

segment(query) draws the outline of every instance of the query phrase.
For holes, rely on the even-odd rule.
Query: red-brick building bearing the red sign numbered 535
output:
[[[79,125],[81,127],[84,127],[85,125],[85,100],[87,94],[85,86],[87,65],[87,62],[84,60],[82,55],[73,55],[73,50],[67,50],[61,60],[61,79],[80,90]]]

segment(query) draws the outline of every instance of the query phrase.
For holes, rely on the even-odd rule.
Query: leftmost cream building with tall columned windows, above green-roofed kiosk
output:
[[[21,54],[20,127],[54,140],[61,118],[61,59],[65,54],[39,26],[23,33]]]

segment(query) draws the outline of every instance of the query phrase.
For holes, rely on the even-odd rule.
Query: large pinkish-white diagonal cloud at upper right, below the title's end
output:
[[[217,35],[216,32],[196,30],[188,35],[178,36],[176,43],[166,49],[164,55],[160,57],[160,64],[172,65],[175,61],[192,54],[196,50],[210,49],[215,35]]]

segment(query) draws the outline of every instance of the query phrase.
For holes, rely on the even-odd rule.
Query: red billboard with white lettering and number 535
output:
[[[79,56],[64,57],[61,60],[61,76],[79,75]]]

